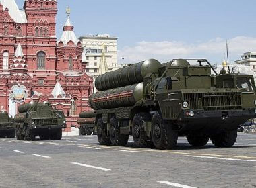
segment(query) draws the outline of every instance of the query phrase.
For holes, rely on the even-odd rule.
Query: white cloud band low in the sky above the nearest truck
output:
[[[230,60],[238,60],[245,52],[256,51],[256,38],[236,36],[228,40]],[[183,41],[137,42],[135,46],[125,46],[119,50],[119,62],[135,63],[149,58],[167,62],[173,58],[207,58],[222,62],[226,52],[226,39],[214,38],[207,42],[187,43]],[[122,60],[125,58],[125,60]]]

